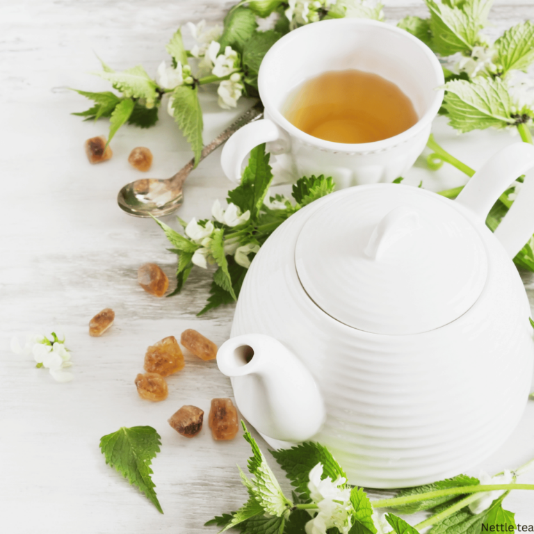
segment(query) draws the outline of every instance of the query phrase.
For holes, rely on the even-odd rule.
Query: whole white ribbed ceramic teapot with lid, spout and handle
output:
[[[517,143],[455,201],[343,189],[291,216],[245,277],[217,362],[275,448],[330,448],[351,484],[422,485],[474,466],[531,387],[528,298],[512,258],[534,233],[534,175],[494,234],[492,204],[534,168]]]

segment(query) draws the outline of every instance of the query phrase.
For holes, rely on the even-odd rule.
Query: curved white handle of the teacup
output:
[[[220,154],[220,164],[228,179],[241,182],[241,165],[247,154],[261,143],[280,140],[284,143],[286,136],[277,125],[269,119],[261,119],[251,122],[238,129],[234,135],[227,140]],[[280,152],[283,152],[281,150]],[[280,153],[278,152],[278,153]]]

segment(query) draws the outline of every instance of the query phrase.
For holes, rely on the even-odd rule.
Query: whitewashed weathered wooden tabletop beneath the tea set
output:
[[[420,0],[387,3],[391,22],[426,12]],[[168,177],[191,157],[186,142],[162,109],[154,129],[124,127],[113,140],[113,159],[89,165],[83,141],[107,135],[108,123],[70,115],[88,102],[67,90],[108,90],[104,81],[87,74],[99,70],[95,53],[118,70],[142,63],[154,73],[177,26],[202,18],[220,21],[231,5],[217,0],[0,4],[2,532],[200,533],[215,531],[204,528],[204,521],[245,501],[235,467],[236,462],[245,467],[249,455],[242,437],[216,443],[206,425],[200,437],[184,439],[167,423],[181,405],[207,412],[211,398],[232,396],[216,363],[186,355],[186,368],[168,379],[170,393],[162,403],[141,401],[133,385],[145,350],[155,341],[179,338],[191,327],[218,344],[229,336],[233,307],[195,316],[207,298],[208,273],[193,271],[174,298],[154,298],[138,286],[137,269],[147,261],[173,280],[175,256],[166,252],[168,243],[153,221],[129,217],[115,202],[123,184],[141,177],[127,163],[133,147],[149,147],[154,154],[149,174]],[[526,18],[534,18],[533,0],[501,0],[491,13],[491,31]],[[202,104],[208,141],[236,113],[220,111],[213,93],[202,95]],[[238,111],[248,105],[241,102]],[[458,138],[441,120],[435,130],[446,148],[474,168],[494,149],[517,140],[487,131]],[[450,167],[429,172],[423,159],[406,179],[413,184],[423,179],[434,190],[465,181]],[[188,180],[179,215],[186,220],[209,216],[213,200],[223,200],[229,186],[213,154]],[[174,224],[172,216],[164,220]],[[527,274],[524,281],[534,303],[534,279]],[[104,307],[115,310],[115,324],[102,338],[91,338],[88,321]],[[75,379],[69,384],[35,369],[31,357],[10,353],[13,334],[51,330],[65,332],[72,350]],[[136,425],[154,426],[161,434],[153,480],[165,515],[106,466],[99,451],[102,435]],[[471,473],[494,474],[533,457],[530,403],[508,442]],[[534,474],[524,482],[534,483]],[[532,494],[514,492],[505,503],[517,522],[534,524]]]

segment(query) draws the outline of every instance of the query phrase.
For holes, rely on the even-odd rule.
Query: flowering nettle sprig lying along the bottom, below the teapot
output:
[[[343,468],[325,446],[305,442],[290,449],[270,451],[293,486],[291,498],[280,487],[266,458],[245,424],[244,437],[252,447],[248,460],[249,478],[241,468],[241,481],[248,501],[236,512],[211,519],[206,526],[219,526],[248,534],[416,534],[432,526],[430,534],[480,532],[484,525],[495,531],[517,528],[514,513],[505,510],[503,500],[513,489],[534,489],[518,484],[517,477],[534,467],[534,460],[514,472],[494,477],[466,475],[419,487],[403,489],[397,496],[371,501],[361,487],[350,487]],[[432,515],[415,526],[384,508],[402,515],[422,510]]]

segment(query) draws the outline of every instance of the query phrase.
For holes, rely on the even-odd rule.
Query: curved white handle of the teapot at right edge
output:
[[[475,172],[456,202],[486,220],[489,210],[517,177],[534,171],[534,145],[515,143],[503,148]],[[510,258],[534,234],[534,172],[528,172],[517,200],[495,231]]]

